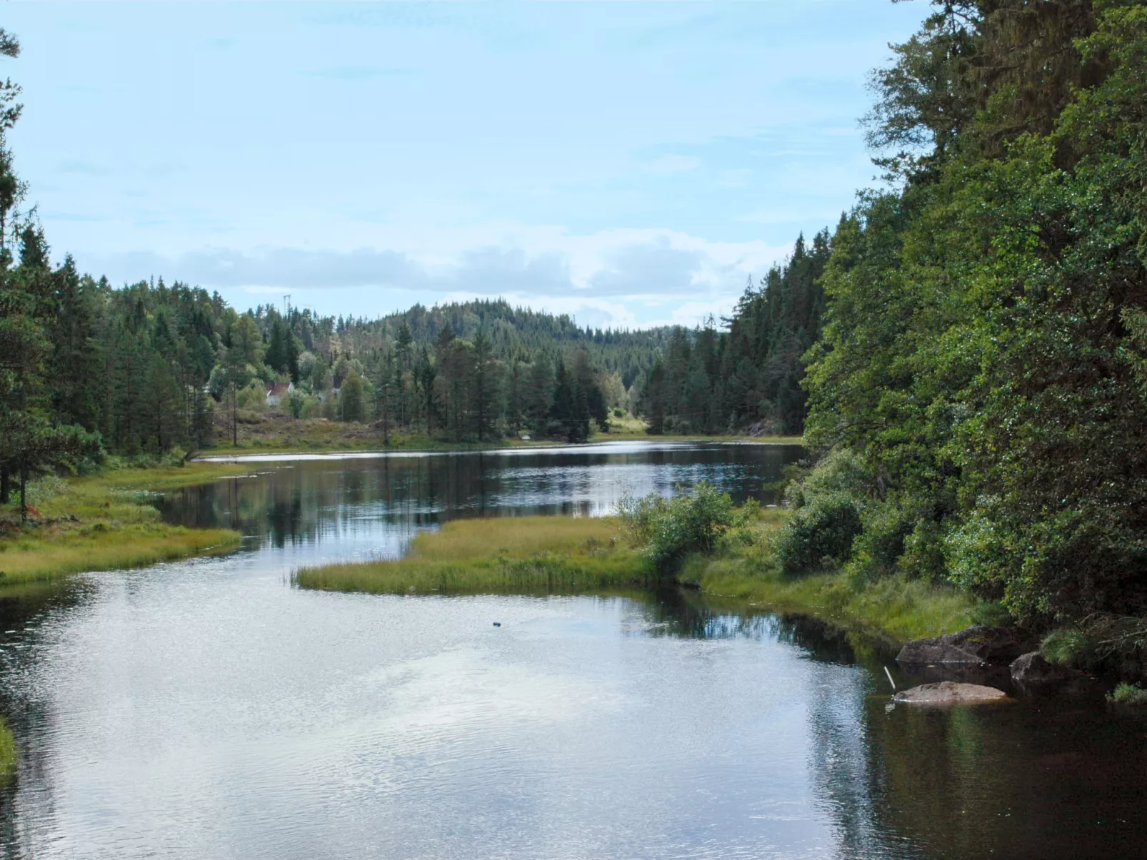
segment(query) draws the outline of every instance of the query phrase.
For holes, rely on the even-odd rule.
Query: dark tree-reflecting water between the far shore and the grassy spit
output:
[[[738,498],[762,498],[763,483],[799,453],[788,446],[715,446],[295,461],[172,493],[161,507],[171,522],[234,527],[281,547],[337,537],[357,524],[409,529],[453,516],[591,514],[626,488],[619,482],[632,468],[642,470],[641,492],[669,493],[679,482],[705,479]]]

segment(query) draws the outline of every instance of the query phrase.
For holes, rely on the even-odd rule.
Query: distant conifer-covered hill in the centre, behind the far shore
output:
[[[260,408],[265,385],[289,380],[284,411],[372,422],[384,444],[396,430],[582,441],[610,414],[632,412],[668,335],[582,329],[502,300],[415,305],[369,321],[260,306],[250,319],[262,344],[256,338],[244,355],[245,378],[216,368],[208,383],[216,398]]]

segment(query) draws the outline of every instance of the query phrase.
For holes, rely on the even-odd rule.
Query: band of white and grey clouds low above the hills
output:
[[[537,240],[537,237],[535,237]],[[525,247],[504,241],[428,257],[416,249],[204,248],[173,256],[154,252],[89,255],[85,267],[115,282],[163,275],[219,290],[242,306],[260,295],[291,292],[296,304],[331,291],[349,292],[348,312],[369,315],[415,302],[475,297],[507,300],[583,325],[646,327],[696,325],[726,314],[749,276],[759,279],[786,248],[762,242],[708,242],[672,230],[552,235]],[[348,304],[338,302],[337,304]]]

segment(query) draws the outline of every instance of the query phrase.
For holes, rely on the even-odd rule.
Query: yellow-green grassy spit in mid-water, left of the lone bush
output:
[[[649,568],[617,522],[587,517],[455,519],[399,560],[303,568],[302,588],[374,594],[531,594],[643,585]]]

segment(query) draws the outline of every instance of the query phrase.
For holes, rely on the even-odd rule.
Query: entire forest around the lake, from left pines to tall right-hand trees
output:
[[[877,187],[693,330],[116,287],[50,261],[3,143],[2,495],[101,452],[226,445],[275,383],[286,414],[383,444],[580,441],[632,413],[655,435],[805,433],[789,572],[951,581],[1031,624],[1147,613],[1147,6],[934,3],[871,86]]]

